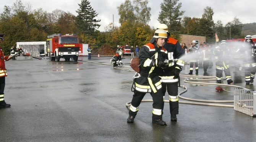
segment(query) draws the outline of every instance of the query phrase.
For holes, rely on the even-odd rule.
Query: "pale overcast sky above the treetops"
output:
[[[23,4],[30,3],[32,9],[43,8],[47,12],[52,12],[54,9],[61,9],[63,11],[70,11],[77,15],[76,10],[79,8],[78,3],[81,0],[21,0]],[[0,13],[3,12],[3,6],[12,6],[16,0],[1,0]],[[89,0],[92,8],[96,10],[99,15],[96,19],[101,19],[100,31],[104,31],[104,27],[113,21],[114,24],[118,23],[119,15],[117,6],[124,3],[125,0]],[[163,0],[149,0],[148,6],[151,7],[151,21],[149,25],[156,27],[159,22],[157,21],[160,12],[160,3]],[[181,10],[184,10],[184,16],[201,18],[204,8],[211,6],[214,11],[214,22],[221,20],[223,24],[227,24],[236,16],[243,24],[256,22],[255,9],[256,0],[180,0],[182,3]]]

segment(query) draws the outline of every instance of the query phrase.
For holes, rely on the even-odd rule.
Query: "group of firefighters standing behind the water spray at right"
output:
[[[244,68],[246,84],[253,82],[256,72],[256,45],[253,43],[251,35],[246,36],[245,43],[243,44],[231,44],[228,46],[227,42],[222,40],[215,49],[211,49],[206,42],[201,47],[196,45],[195,40],[191,44],[191,47],[188,48],[188,57],[190,57],[190,72],[188,74],[193,74],[194,65],[196,74],[198,74],[199,60],[203,63],[204,73],[206,73],[211,56],[214,56],[217,83],[221,83],[223,71],[227,84],[233,82],[231,79],[230,64],[234,65],[233,68],[236,75],[239,75],[237,72],[241,71],[241,68]]]

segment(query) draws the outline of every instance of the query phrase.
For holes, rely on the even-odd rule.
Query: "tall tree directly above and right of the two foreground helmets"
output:
[[[181,30],[181,16],[185,11],[180,11],[179,0],[164,0],[161,3],[161,11],[158,16],[160,23],[166,24],[171,35],[178,37]]]

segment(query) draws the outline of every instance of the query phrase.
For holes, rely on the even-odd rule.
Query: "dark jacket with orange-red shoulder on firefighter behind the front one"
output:
[[[168,60],[178,59],[184,54],[184,50],[180,46],[180,43],[174,38],[168,38],[167,42],[164,44],[164,48],[167,50],[165,59]],[[164,55],[161,57],[164,57]],[[178,79],[173,79],[174,72],[175,69],[180,71],[182,66],[184,66],[184,63],[185,62],[183,60],[178,60],[177,62],[169,62],[169,66],[167,68],[162,68],[160,73],[161,82],[178,82]]]

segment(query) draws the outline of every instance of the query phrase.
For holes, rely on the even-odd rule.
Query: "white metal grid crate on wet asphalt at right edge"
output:
[[[244,88],[235,88],[234,109],[250,116],[256,116],[256,92]]]

